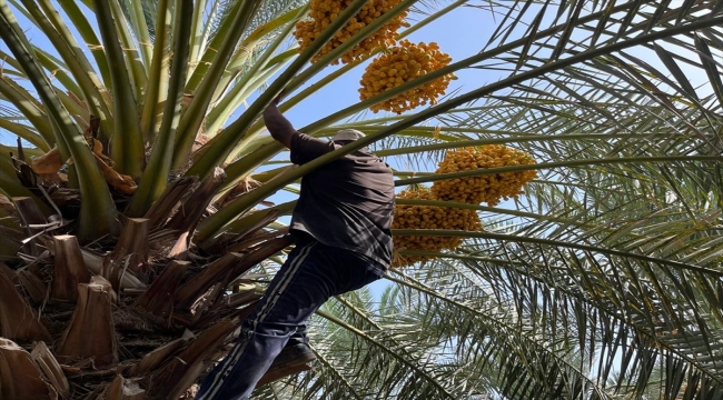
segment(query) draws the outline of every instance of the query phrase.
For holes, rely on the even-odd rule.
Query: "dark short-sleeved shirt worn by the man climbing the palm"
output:
[[[291,139],[291,161],[303,164],[339,147],[298,133]],[[291,229],[386,268],[392,259],[393,210],[392,170],[370,152],[355,151],[301,180]]]

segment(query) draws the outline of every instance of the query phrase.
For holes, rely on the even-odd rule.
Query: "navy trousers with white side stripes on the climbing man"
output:
[[[234,349],[201,383],[196,400],[248,399],[289,339],[307,341],[306,321],[324,302],[383,274],[382,267],[353,251],[316,241],[297,244],[241,323]]]

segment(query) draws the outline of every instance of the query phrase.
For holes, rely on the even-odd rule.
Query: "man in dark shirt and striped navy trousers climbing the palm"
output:
[[[297,132],[277,102],[264,111],[264,121],[296,164],[364,137],[346,129],[327,142]],[[331,296],[382,278],[392,258],[393,211],[392,170],[367,148],[304,177],[290,227],[296,248],[196,399],[248,399],[265,372],[314,360],[306,321]]]

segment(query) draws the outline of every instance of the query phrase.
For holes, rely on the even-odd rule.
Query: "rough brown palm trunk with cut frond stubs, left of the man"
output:
[[[19,172],[31,190],[46,182],[28,168]],[[128,196],[118,184],[131,181],[113,177],[122,210]],[[143,218],[120,216],[119,237],[91,243],[78,242],[73,223],[43,231],[48,220],[77,218],[77,189],[55,182],[44,188],[48,203],[0,201],[0,217],[10,217],[0,237],[20,243],[34,236],[0,263],[0,399],[192,398],[194,384],[228,352],[231,333],[260,298],[254,281],[269,278],[248,271],[293,243],[287,230],[268,229],[279,214],[273,210],[199,248],[196,227],[216,212],[224,179],[217,169],[201,182],[170,182]],[[43,214],[58,210],[62,219]]]

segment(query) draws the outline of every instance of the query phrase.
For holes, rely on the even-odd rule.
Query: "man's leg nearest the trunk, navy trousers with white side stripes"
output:
[[[201,384],[197,400],[245,400],[297,327],[330,296],[336,282],[318,243],[299,246],[274,277],[237,344]],[[316,251],[315,251],[316,250]]]

